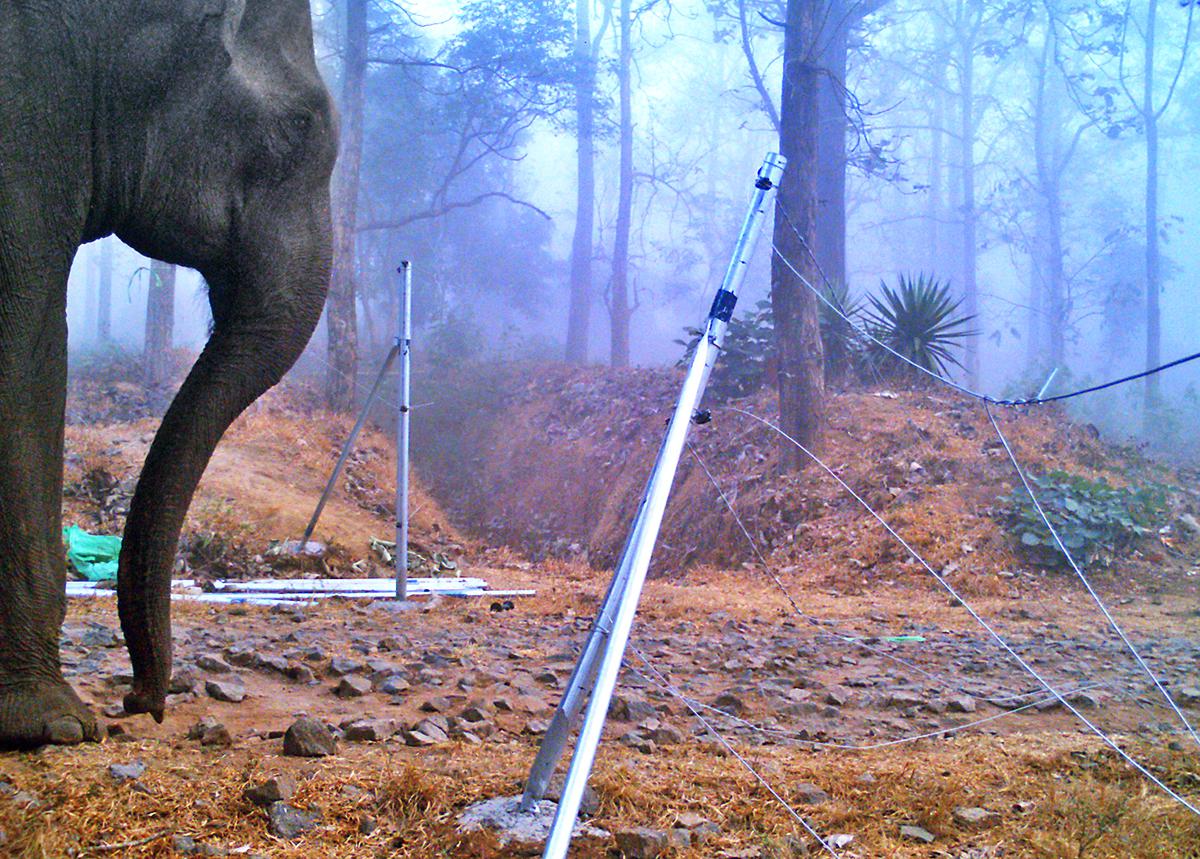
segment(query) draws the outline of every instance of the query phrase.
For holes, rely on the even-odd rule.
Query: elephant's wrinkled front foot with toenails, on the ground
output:
[[[0,686],[0,750],[98,739],[95,717],[65,680]]]

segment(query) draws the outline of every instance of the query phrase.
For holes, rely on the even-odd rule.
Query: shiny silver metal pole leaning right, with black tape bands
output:
[[[542,791],[545,789],[544,786],[550,779],[550,773],[553,771],[562,756],[570,733],[570,725],[578,714],[583,698],[587,697],[588,707],[583,717],[583,727],[580,729],[580,737],[575,744],[575,753],[571,756],[571,765],[566,773],[566,782],[563,786],[550,836],[546,839],[542,859],[564,859],[570,846],[571,831],[575,829],[580,801],[583,798],[583,788],[595,761],[600,734],[608,714],[608,704],[612,701],[612,692],[617,685],[617,675],[620,672],[625,647],[629,643],[634,617],[637,613],[642,585],[646,583],[654,543],[662,525],[662,516],[671,494],[671,483],[674,481],[676,469],[688,440],[689,425],[698,416],[697,408],[704,395],[713,365],[720,354],[721,341],[728,328],[730,318],[733,316],[738,288],[745,277],[754,245],[766,220],[767,200],[779,184],[786,163],[782,156],[772,152],[758,169],[750,211],[746,214],[745,223],[734,246],[733,258],[730,260],[725,280],[708,312],[703,334],[696,342],[696,350],[684,378],[679,401],[676,403],[674,414],[667,425],[666,437],[642,494],[642,501],[634,518],[620,563],[613,575],[612,583],[608,585],[605,606],[596,618],[575,672],[571,674],[568,689],[559,702],[558,711],[554,714],[558,731],[553,737],[547,732],[538,758],[534,761],[534,770],[530,773],[523,804],[539,798],[530,797],[529,787],[533,787],[534,782],[541,785]],[[588,691],[590,691],[590,696],[588,696]]]

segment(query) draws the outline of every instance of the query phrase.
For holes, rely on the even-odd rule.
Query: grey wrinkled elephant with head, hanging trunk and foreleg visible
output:
[[[221,435],[317,324],[335,152],[307,0],[0,0],[0,747],[97,733],[58,650],[76,250],[115,233],[210,286],[212,336],[121,551],[125,708],[161,720],[179,531]]]

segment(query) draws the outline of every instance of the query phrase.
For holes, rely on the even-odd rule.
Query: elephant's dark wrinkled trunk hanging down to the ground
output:
[[[328,241],[317,245],[293,254],[292,265],[264,260],[274,272],[265,283],[252,275],[210,280],[212,336],[155,435],[125,527],[118,600],[133,666],[127,713],[162,721],[172,668],[170,576],[184,518],[222,434],[283,378],[317,325],[329,274]]]

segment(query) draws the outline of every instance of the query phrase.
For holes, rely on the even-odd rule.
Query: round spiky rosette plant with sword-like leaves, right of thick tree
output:
[[[895,289],[881,282],[880,293],[869,296],[871,307],[865,313],[866,330],[875,340],[932,373],[944,374],[949,365],[962,366],[955,353],[976,334],[968,328],[974,317],[959,314],[962,299],[950,294],[948,282],[929,275],[901,275]],[[875,343],[869,354],[881,370],[916,372]]]

